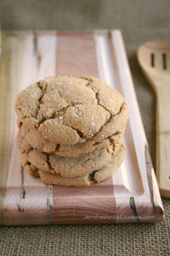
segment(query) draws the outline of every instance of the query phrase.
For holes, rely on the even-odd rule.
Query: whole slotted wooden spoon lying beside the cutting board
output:
[[[170,41],[144,43],[137,58],[156,93],[156,178],[160,195],[170,198]]]

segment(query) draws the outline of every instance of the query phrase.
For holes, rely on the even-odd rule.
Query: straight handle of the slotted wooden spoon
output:
[[[170,84],[156,86],[156,179],[160,195],[170,198]]]

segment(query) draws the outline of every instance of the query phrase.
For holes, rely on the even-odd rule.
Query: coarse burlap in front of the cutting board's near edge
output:
[[[0,227],[3,256],[170,255],[169,200],[161,223]]]

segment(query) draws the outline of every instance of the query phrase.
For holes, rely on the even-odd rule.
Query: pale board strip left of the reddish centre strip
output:
[[[55,74],[56,58],[53,53],[56,50],[56,42],[56,34],[29,32],[24,37],[22,47],[18,47],[16,52],[13,50],[15,55],[11,54],[13,64],[11,65],[11,78],[15,78],[11,87],[15,92],[11,91],[10,98],[12,98],[13,104],[9,114],[11,115],[10,120],[14,123],[10,125],[11,132],[7,133],[12,136],[13,143],[4,200],[5,225],[37,224],[37,219],[40,224],[52,223],[52,186],[46,186],[39,178],[34,179],[22,170],[15,144],[18,128],[16,119],[12,117],[15,116],[14,105],[17,93],[44,76]],[[13,44],[12,46],[14,47]],[[19,56],[21,57],[19,58]],[[17,70],[14,69],[15,67]]]

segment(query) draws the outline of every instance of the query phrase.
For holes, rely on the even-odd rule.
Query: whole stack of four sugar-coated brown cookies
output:
[[[47,77],[19,93],[15,111],[20,162],[46,184],[88,186],[125,158],[129,108],[101,79]]]

